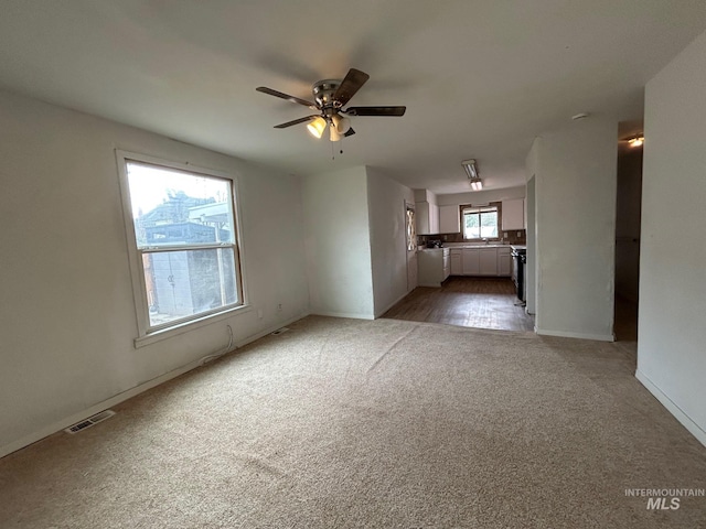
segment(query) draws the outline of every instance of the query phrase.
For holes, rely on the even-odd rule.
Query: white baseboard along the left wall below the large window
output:
[[[246,338],[243,338],[236,343],[234,343],[233,345],[233,349],[229,352],[234,352],[252,342],[255,342],[256,339],[261,338],[263,336],[266,336],[270,333],[274,333],[275,331],[277,331],[278,328],[285,327],[296,321],[301,320],[302,317],[308,316],[309,313],[304,313],[304,314],[300,314],[296,317],[292,317],[290,320],[287,320],[285,322],[278,323],[275,326],[268,327],[265,331],[260,331],[257,334],[253,334],[250,336],[247,336]],[[227,353],[226,353],[227,354]],[[25,446],[29,446],[30,444],[36,443],[38,441],[41,441],[42,439],[52,435],[56,432],[60,432],[62,430],[64,430],[65,428],[71,427],[72,424],[76,424],[79,421],[83,421],[84,419],[86,419],[87,417],[90,415],[95,415],[96,413],[107,410],[108,408],[113,407],[113,406],[117,406],[120,402],[125,402],[128,399],[131,399],[132,397],[136,397],[145,391],[148,391],[157,386],[159,386],[160,384],[164,384],[169,380],[171,380],[172,378],[176,378],[185,373],[191,371],[192,369],[195,369],[197,367],[201,367],[202,365],[204,365],[203,358],[200,358],[197,360],[191,361],[189,364],[186,364],[185,366],[182,367],[178,367],[176,369],[173,369],[169,373],[165,373],[164,375],[160,375],[157,378],[153,378],[151,380],[148,380],[146,382],[140,384],[139,386],[136,386],[133,388],[130,388],[126,391],[122,391],[121,393],[118,393],[114,397],[110,397],[107,400],[104,400],[101,402],[98,402],[94,406],[92,406],[90,408],[86,408],[85,410],[82,410],[77,413],[73,413],[72,415],[65,417],[64,419],[54,422],[53,424],[50,424],[45,428],[42,428],[40,430],[38,430],[36,432],[33,432],[29,435],[25,435],[21,439],[18,439],[17,441],[13,441],[9,444],[6,444],[3,446],[0,446],[0,457],[4,457],[8,454],[11,454],[12,452],[15,452],[20,449],[23,449]]]

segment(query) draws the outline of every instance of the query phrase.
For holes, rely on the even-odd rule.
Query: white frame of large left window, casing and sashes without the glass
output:
[[[211,325],[215,322],[218,322],[221,320],[232,316],[236,312],[249,311],[250,307],[247,301],[248,298],[247,298],[247,290],[246,290],[245,270],[243,266],[243,248],[242,248],[243,237],[240,234],[237,177],[233,174],[225,173],[222,171],[192,165],[189,162],[184,162],[184,163],[173,162],[170,160],[164,160],[164,159],[151,156],[148,154],[124,151],[120,149],[116,149],[115,152],[116,152],[118,174],[119,174],[119,181],[120,181],[122,214],[124,214],[125,228],[126,228],[125,229],[126,242],[127,242],[128,257],[129,257],[129,263],[130,263],[130,279],[132,282],[132,298],[133,298],[135,307],[136,307],[138,336],[135,338],[135,342],[133,342],[135,347],[139,348],[145,345],[149,345],[151,343],[154,343],[164,338],[169,338],[171,336],[175,336],[178,334],[182,334],[204,325]],[[238,296],[237,304],[232,304],[225,307],[217,307],[212,311],[200,312],[199,314],[194,314],[192,316],[181,317],[179,320],[174,320],[172,322],[167,322],[159,325],[152,325],[150,323],[147,284],[145,280],[145,268],[142,264],[142,256],[146,252],[145,252],[145,249],[140,249],[138,247],[137,236],[135,233],[135,223],[132,219],[132,202],[130,196],[130,186],[129,186],[128,170],[127,170],[129,162],[135,162],[142,165],[153,165],[158,169],[179,171],[186,174],[195,174],[195,175],[203,175],[206,177],[227,180],[229,182],[231,193],[232,193],[232,196],[229,198],[233,205],[233,236],[235,240],[233,241],[232,245],[227,245],[225,247],[233,248],[236,291]],[[151,250],[149,252],[151,253],[157,251],[184,251],[184,250],[190,251],[190,250],[212,249],[217,247],[223,248],[224,246],[205,245],[197,248],[184,248],[183,246],[174,247],[174,248],[165,247],[162,250]]]

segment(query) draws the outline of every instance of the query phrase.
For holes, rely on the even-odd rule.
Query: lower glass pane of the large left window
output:
[[[150,326],[238,303],[233,248],[142,256]]]

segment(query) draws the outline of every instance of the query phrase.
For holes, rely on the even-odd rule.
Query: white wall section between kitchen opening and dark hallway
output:
[[[617,138],[591,117],[537,143],[538,334],[613,339]]]

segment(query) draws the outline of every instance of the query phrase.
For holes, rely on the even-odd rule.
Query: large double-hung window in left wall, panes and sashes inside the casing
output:
[[[119,155],[140,334],[243,304],[233,180]]]

